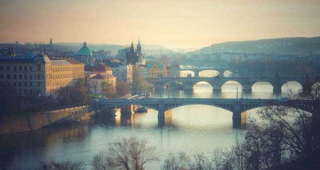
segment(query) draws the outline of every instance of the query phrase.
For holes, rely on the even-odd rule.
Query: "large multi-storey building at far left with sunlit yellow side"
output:
[[[84,79],[84,63],[50,60],[47,55],[29,52],[24,57],[0,57],[0,86],[10,83],[18,96],[58,95],[62,87]]]

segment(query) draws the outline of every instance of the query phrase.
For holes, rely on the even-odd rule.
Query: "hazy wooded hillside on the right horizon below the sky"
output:
[[[212,52],[276,53],[276,54],[320,54],[320,37],[294,37],[232,41],[204,47],[192,54]]]

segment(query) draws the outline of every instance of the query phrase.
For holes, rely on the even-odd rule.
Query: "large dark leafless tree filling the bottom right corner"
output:
[[[288,96],[291,99],[284,105],[261,108],[257,112],[261,121],[248,123],[249,131],[236,147],[236,153],[246,159],[247,169],[320,168],[320,103],[316,93]],[[300,99],[309,103],[302,105]],[[302,107],[313,109],[313,114]]]

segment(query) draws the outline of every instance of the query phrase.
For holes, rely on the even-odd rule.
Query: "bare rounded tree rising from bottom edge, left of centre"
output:
[[[155,146],[148,146],[146,139],[123,138],[110,143],[109,152],[113,160],[127,170],[143,169],[143,165],[158,158],[154,155]]]

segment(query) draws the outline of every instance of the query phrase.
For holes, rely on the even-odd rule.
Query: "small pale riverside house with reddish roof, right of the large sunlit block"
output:
[[[99,73],[90,78],[90,93],[103,94],[104,90],[101,87],[103,82],[112,83],[112,87],[116,91],[116,80],[115,76],[107,73]]]

